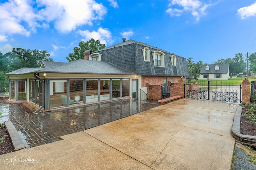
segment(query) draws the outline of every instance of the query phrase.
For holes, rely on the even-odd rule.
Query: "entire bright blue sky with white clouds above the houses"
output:
[[[212,64],[256,52],[255,0],[0,0],[0,51],[46,50],[54,61],[81,41],[142,41]]]

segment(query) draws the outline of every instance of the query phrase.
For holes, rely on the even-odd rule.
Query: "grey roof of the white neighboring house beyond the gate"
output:
[[[216,73],[228,73],[228,63],[226,64],[204,64],[201,65],[201,74],[216,74]],[[209,66],[209,70],[206,70],[205,67]],[[215,66],[219,66],[218,70],[215,70]]]

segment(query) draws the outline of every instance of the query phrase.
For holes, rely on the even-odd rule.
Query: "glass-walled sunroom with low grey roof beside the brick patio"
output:
[[[42,65],[6,74],[10,100],[29,101],[47,111],[132,96],[136,75],[112,64],[78,60]]]

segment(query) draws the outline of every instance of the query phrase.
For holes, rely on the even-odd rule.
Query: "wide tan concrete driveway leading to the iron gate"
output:
[[[0,156],[2,169],[229,170],[236,104],[181,99]]]

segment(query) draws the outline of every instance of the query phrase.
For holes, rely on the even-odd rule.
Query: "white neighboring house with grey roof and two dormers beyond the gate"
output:
[[[228,80],[229,66],[226,64],[204,64],[201,65],[199,80],[209,78],[210,80]]]

